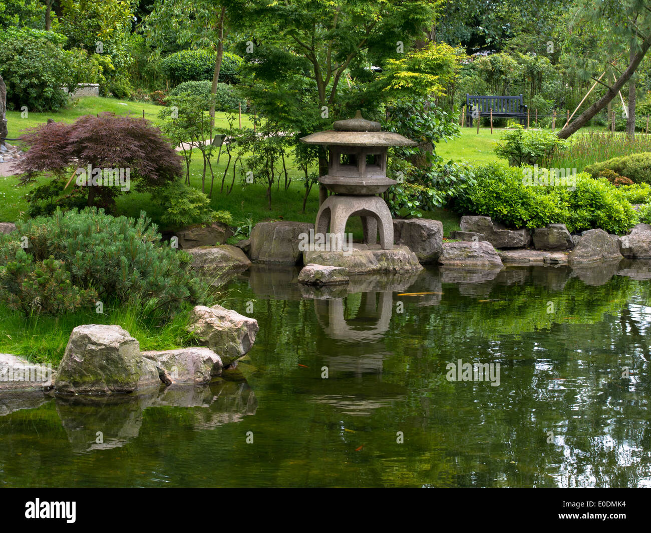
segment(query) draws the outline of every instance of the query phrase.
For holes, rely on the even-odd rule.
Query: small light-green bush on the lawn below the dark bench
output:
[[[495,154],[508,160],[513,167],[542,163],[554,150],[562,150],[567,142],[559,139],[556,133],[545,130],[524,130],[516,128],[505,131],[502,139],[495,145]]]

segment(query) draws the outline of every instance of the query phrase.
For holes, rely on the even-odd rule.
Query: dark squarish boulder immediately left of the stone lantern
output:
[[[314,225],[304,222],[260,222],[251,230],[251,252],[255,262],[298,264],[301,234],[309,234]]]

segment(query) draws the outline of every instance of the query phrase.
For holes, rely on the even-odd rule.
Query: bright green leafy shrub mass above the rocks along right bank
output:
[[[478,167],[475,178],[454,199],[456,212],[489,216],[514,228],[561,223],[572,232],[602,228],[622,234],[637,223],[633,206],[618,187],[585,173],[577,175],[576,187],[531,186],[523,169],[493,163]]]

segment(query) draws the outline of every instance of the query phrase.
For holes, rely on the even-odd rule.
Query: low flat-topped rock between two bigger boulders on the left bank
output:
[[[221,376],[223,364],[210,348],[179,348],[163,351],[143,351],[146,359],[156,363],[161,381],[172,383],[208,383]],[[163,377],[167,379],[163,379]],[[169,383],[168,383],[169,381]]]

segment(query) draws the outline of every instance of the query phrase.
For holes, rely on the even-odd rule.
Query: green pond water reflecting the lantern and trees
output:
[[[260,331],[209,387],[0,398],[0,486],[651,486],[648,264],[297,272],[229,282]]]

